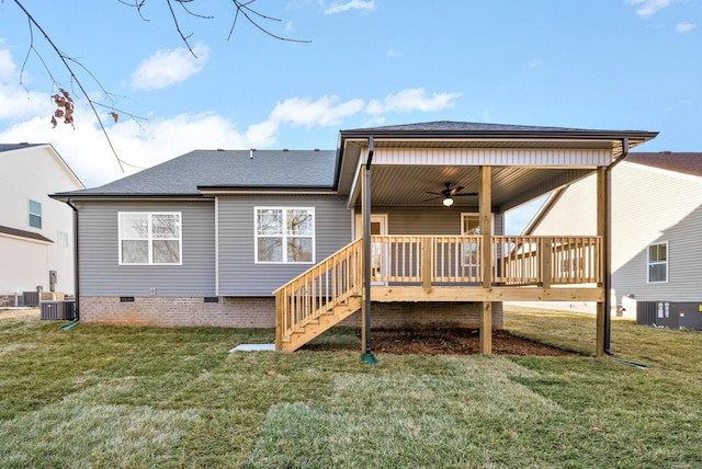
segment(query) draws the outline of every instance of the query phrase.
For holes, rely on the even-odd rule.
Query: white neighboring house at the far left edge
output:
[[[50,145],[0,145],[0,307],[73,295],[73,210],[48,194],[81,188]]]

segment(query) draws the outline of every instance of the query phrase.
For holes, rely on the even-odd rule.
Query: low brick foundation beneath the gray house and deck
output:
[[[80,322],[87,324],[154,325],[165,328],[274,328],[275,299],[272,297],[219,297],[205,302],[202,297],[80,297]],[[480,324],[479,302],[373,302],[373,328],[460,327]],[[361,327],[356,312],[340,325]],[[502,304],[492,304],[492,328],[502,329]]]

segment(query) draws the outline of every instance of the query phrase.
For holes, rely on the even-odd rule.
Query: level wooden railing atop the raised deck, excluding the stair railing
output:
[[[383,284],[478,284],[480,236],[374,236],[372,276]],[[490,237],[492,285],[567,285],[602,281],[601,237]]]

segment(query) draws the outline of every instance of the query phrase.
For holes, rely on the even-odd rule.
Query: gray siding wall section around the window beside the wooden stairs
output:
[[[351,242],[351,211],[339,196],[219,197],[219,294],[270,296],[314,264],[257,264],[254,207],[314,207],[315,263]]]

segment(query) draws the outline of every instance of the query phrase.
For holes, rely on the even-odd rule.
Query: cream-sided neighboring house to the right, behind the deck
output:
[[[632,318],[653,307],[648,322],[702,329],[702,153],[632,152],[611,179],[612,307]],[[555,192],[524,234],[593,233],[595,185],[588,176]]]

